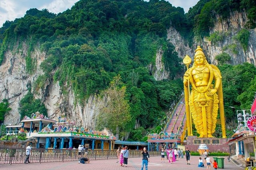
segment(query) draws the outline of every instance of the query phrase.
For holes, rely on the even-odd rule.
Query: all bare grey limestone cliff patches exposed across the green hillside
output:
[[[215,57],[224,51],[225,46],[238,44],[232,39],[232,36],[236,35],[238,31],[244,27],[246,21],[245,13],[232,12],[231,17],[227,20],[221,20],[220,17],[218,17],[218,21],[216,21],[214,28],[212,28],[210,32],[228,32],[229,34],[227,37],[224,37],[223,41],[218,41],[216,44],[212,44],[207,39],[204,39],[202,44],[195,42],[194,47],[189,47],[186,40],[184,40],[173,27],[167,30],[167,41],[175,46],[178,56],[182,59],[185,55],[189,55],[193,58],[194,49],[196,49],[197,45],[201,45],[209,63],[216,64],[217,61]],[[239,44],[237,47],[236,54],[229,48],[224,51],[231,56],[229,63],[240,64],[248,62],[255,65],[256,29],[250,30],[250,39],[246,51],[244,51]],[[148,66],[156,80],[169,78],[169,70],[164,68],[162,54],[162,49],[156,51],[156,63]],[[20,115],[18,113],[20,100],[27,94],[28,87],[31,87],[38,76],[43,74],[39,66],[46,58],[46,53],[35,49],[31,54],[32,58],[36,60],[36,71],[32,75],[26,73],[25,70],[26,55],[27,47],[24,44],[23,48],[18,52],[7,51],[5,53],[5,61],[0,66],[0,101],[4,98],[8,99],[10,107],[12,108],[12,110],[5,115],[5,125],[20,122]],[[44,102],[48,111],[48,117],[57,119],[59,116],[64,115],[69,120],[75,120],[78,125],[87,127],[88,129],[94,129],[94,122],[100,103],[100,100],[96,96],[90,96],[86,103],[79,104],[75,102],[75,95],[71,88],[68,90],[68,94],[64,95],[58,86],[58,82],[54,83],[53,80],[49,79],[45,83],[44,89],[34,93],[34,97]]]

